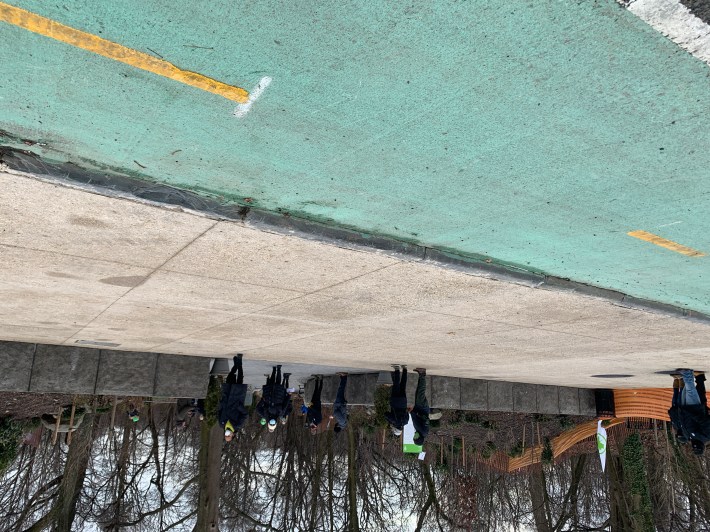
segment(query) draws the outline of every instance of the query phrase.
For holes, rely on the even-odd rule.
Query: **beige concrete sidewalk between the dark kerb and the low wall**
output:
[[[0,173],[0,339],[573,387],[706,368],[710,327]]]

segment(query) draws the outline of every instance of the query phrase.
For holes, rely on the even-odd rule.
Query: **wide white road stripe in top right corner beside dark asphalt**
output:
[[[627,9],[710,65],[710,26],[678,0],[632,0]]]

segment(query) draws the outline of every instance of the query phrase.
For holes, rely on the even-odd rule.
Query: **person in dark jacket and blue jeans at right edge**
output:
[[[679,369],[674,377],[683,380],[682,388],[674,387],[673,404],[668,415],[680,441],[690,442],[693,453],[703,454],[705,444],[710,441],[710,417],[705,395],[705,374],[697,372],[693,382],[692,369]],[[676,391],[677,390],[677,391]]]

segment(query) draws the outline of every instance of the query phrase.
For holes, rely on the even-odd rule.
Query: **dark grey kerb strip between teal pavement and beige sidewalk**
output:
[[[346,227],[326,226],[320,222],[290,216],[288,213],[273,213],[237,204],[228,205],[191,191],[147,182],[140,177],[110,174],[109,172],[98,173],[68,163],[47,162],[31,152],[0,146],[0,170],[54,185],[69,186],[75,190],[88,191],[111,198],[128,199],[144,205],[182,211],[213,220],[242,222],[257,229],[297,236],[344,249],[369,252],[376,250],[394,258],[432,264],[469,275],[531,288],[575,292],[635,310],[664,314],[710,325],[710,315],[691,309],[636,298],[616,290],[554,275],[522,270],[512,265],[495,264],[492,259],[457,255],[391,237],[370,236]],[[38,172],[40,173],[38,174]],[[155,201],[141,196],[148,193],[153,197],[161,194],[164,194],[165,197],[162,198],[162,201]],[[491,262],[487,262],[488,260]],[[624,305],[624,302],[627,304]]]

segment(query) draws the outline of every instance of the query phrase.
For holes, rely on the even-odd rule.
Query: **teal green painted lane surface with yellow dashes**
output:
[[[710,257],[627,235],[710,254],[710,67],[611,0],[11,3],[273,81],[237,118],[0,23],[0,144],[710,312]]]

